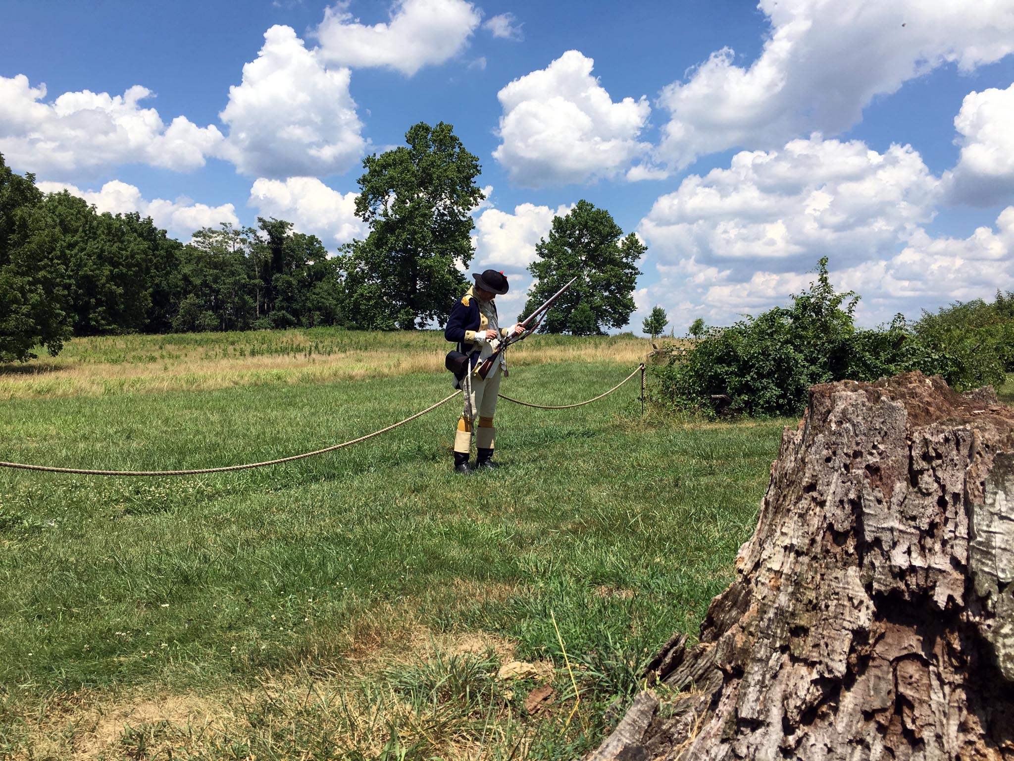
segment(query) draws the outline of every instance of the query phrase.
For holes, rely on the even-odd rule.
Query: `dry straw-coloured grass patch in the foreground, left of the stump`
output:
[[[297,724],[305,729],[314,721],[338,746],[379,755],[388,740],[388,721],[401,728],[406,741],[436,739],[432,718],[385,686],[378,675],[436,658],[495,652],[507,663],[514,654],[513,642],[488,632],[437,634],[419,626],[397,628],[403,636],[391,637],[392,631],[381,633],[369,626],[360,629],[362,639],[354,656],[327,675],[265,674],[257,687],[241,691],[152,695],[141,690],[89,690],[55,696],[38,714],[24,717],[19,747],[0,756],[11,761],[232,758],[227,750],[238,739],[264,743],[272,733],[287,733]],[[539,667],[547,678],[552,676],[551,664]],[[506,705],[502,716],[491,718],[491,736],[506,734],[517,720]],[[437,746],[448,759],[485,757],[472,736],[457,738],[450,733]]]

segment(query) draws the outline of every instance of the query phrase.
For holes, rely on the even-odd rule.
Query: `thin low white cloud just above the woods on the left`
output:
[[[191,234],[202,227],[217,227],[222,222],[239,224],[232,204],[208,206],[194,203],[189,198],[166,201],[156,198],[151,201],[142,197],[134,185],[119,180],[105,183],[100,190],[84,191],[66,183],[41,182],[37,186],[44,193],[68,191],[72,196],[83,198],[94,205],[99,213],[122,214],[132,211],[142,217],[151,217],[157,227],[167,230],[180,239],[189,239]]]

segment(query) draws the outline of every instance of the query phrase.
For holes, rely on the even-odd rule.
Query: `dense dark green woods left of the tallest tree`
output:
[[[71,335],[341,322],[339,262],[289,222],[258,221],[184,246],[137,213],[45,195],[0,155],[0,361],[55,354]]]

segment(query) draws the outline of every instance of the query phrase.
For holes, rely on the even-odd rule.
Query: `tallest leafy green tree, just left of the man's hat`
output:
[[[414,329],[444,317],[466,282],[479,159],[449,124],[420,122],[400,146],[363,160],[356,214],[370,226],[346,248],[346,310],[358,328]]]

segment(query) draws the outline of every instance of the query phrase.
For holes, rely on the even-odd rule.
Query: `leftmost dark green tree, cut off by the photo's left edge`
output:
[[[60,230],[43,200],[34,177],[0,154],[0,362],[31,359],[39,345],[56,355],[71,336]]]

